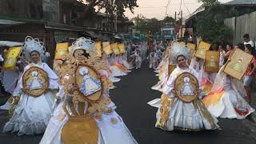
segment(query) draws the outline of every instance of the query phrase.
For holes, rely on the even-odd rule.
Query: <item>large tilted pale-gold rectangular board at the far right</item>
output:
[[[224,72],[233,78],[241,80],[252,58],[254,58],[253,55],[247,54],[243,50],[235,49],[230,58],[231,61],[226,64]]]

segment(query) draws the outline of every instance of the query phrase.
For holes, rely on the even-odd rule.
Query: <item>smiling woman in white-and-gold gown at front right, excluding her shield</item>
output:
[[[173,48],[174,49],[174,48]],[[192,102],[183,102],[174,93],[174,83],[180,74],[192,74],[198,78],[195,70],[191,69],[186,62],[188,54],[185,49],[177,49],[176,58],[177,68],[170,74],[170,78],[162,89],[161,104],[158,106],[156,114],[156,127],[162,130],[215,130],[218,129],[218,120],[214,118],[199,98]],[[187,82],[187,81],[186,81]],[[186,83],[185,82],[185,83]],[[181,90],[182,92],[182,90]],[[183,91],[184,92],[184,91]],[[189,90],[186,90],[188,94]],[[153,101],[149,102],[151,106]]]

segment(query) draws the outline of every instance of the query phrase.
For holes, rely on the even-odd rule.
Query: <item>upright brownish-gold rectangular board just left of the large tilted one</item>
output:
[[[205,71],[218,73],[219,69],[219,57],[218,51],[206,51]]]

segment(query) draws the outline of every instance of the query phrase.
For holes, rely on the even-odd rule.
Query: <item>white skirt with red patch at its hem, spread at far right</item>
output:
[[[246,118],[255,110],[244,98],[236,94],[234,90],[227,90],[222,94],[222,98],[213,106],[207,106],[207,109],[215,117],[219,118]]]

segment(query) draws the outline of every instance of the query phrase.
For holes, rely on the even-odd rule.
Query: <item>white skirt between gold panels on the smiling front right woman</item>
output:
[[[206,107],[204,108],[206,109]],[[157,119],[160,118],[160,107],[157,112]],[[202,111],[196,109],[192,102],[182,102],[178,98],[174,98],[174,103],[170,108],[169,118],[166,122],[166,128],[163,130],[214,130],[218,128],[218,120],[214,117],[214,126],[202,116]],[[217,126],[217,127],[216,127]],[[156,125],[156,127],[158,127]],[[159,127],[162,129],[162,127]]]

